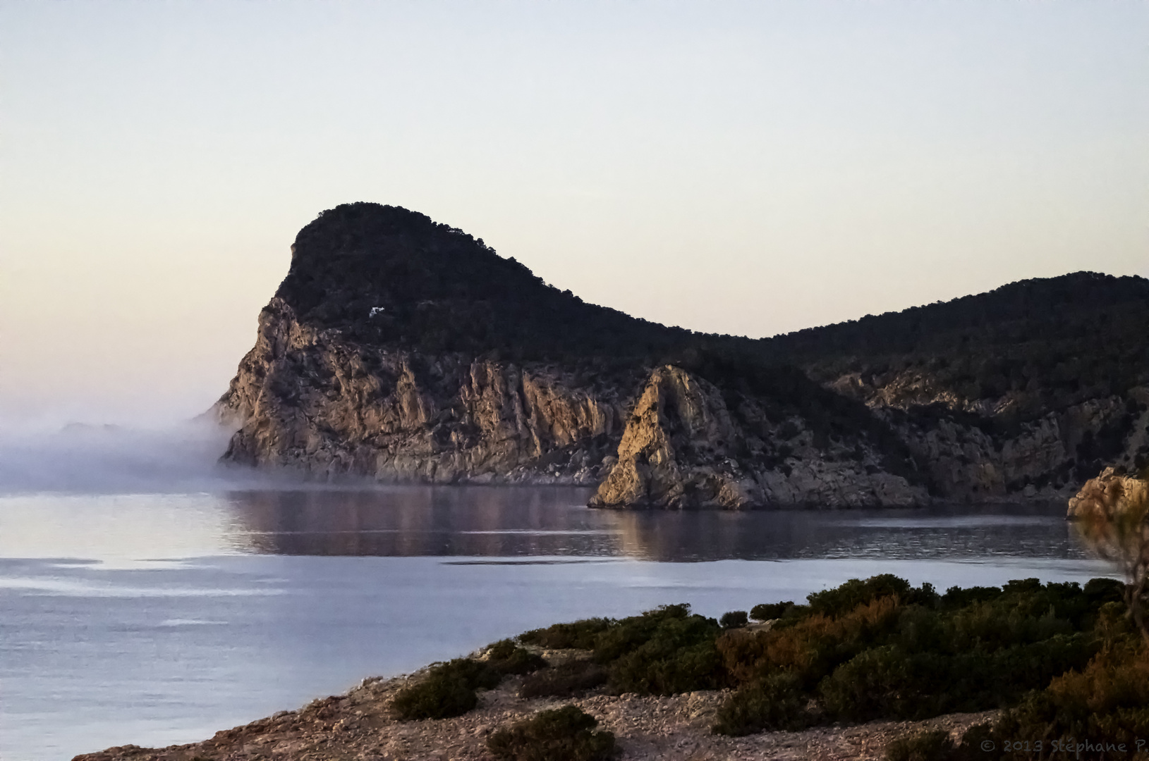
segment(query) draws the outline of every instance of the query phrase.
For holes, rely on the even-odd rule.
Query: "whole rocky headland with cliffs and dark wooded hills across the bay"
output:
[[[229,463],[595,486],[597,507],[1064,499],[1149,461],[1147,324],[1149,281],[1082,272],[772,339],[694,333],[352,203],[300,231],[214,414]]]

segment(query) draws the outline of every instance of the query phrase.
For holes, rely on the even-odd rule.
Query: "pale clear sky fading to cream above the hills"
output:
[[[0,428],[206,410],[350,201],[750,336],[1149,275],[1147,40],[1118,0],[0,0]]]

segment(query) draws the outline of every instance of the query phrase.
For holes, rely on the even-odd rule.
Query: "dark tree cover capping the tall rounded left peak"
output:
[[[656,357],[691,331],[587,304],[483,240],[399,207],[349,203],[300,231],[277,296],[356,341],[509,360]]]

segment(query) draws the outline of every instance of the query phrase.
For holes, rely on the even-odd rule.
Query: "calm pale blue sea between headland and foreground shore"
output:
[[[1109,573],[1063,508],[617,513],[577,489],[0,497],[0,759],[168,745],[525,629],[850,577]]]

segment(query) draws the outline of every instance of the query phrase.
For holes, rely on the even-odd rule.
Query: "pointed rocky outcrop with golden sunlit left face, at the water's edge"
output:
[[[912,506],[921,486],[882,469],[863,442],[813,445],[805,421],[771,425],[758,399],[740,395],[737,413],[707,380],[674,366],[655,370],[627,419],[618,461],[591,499],[594,507],[822,505]],[[778,446],[778,440],[788,442]]]

